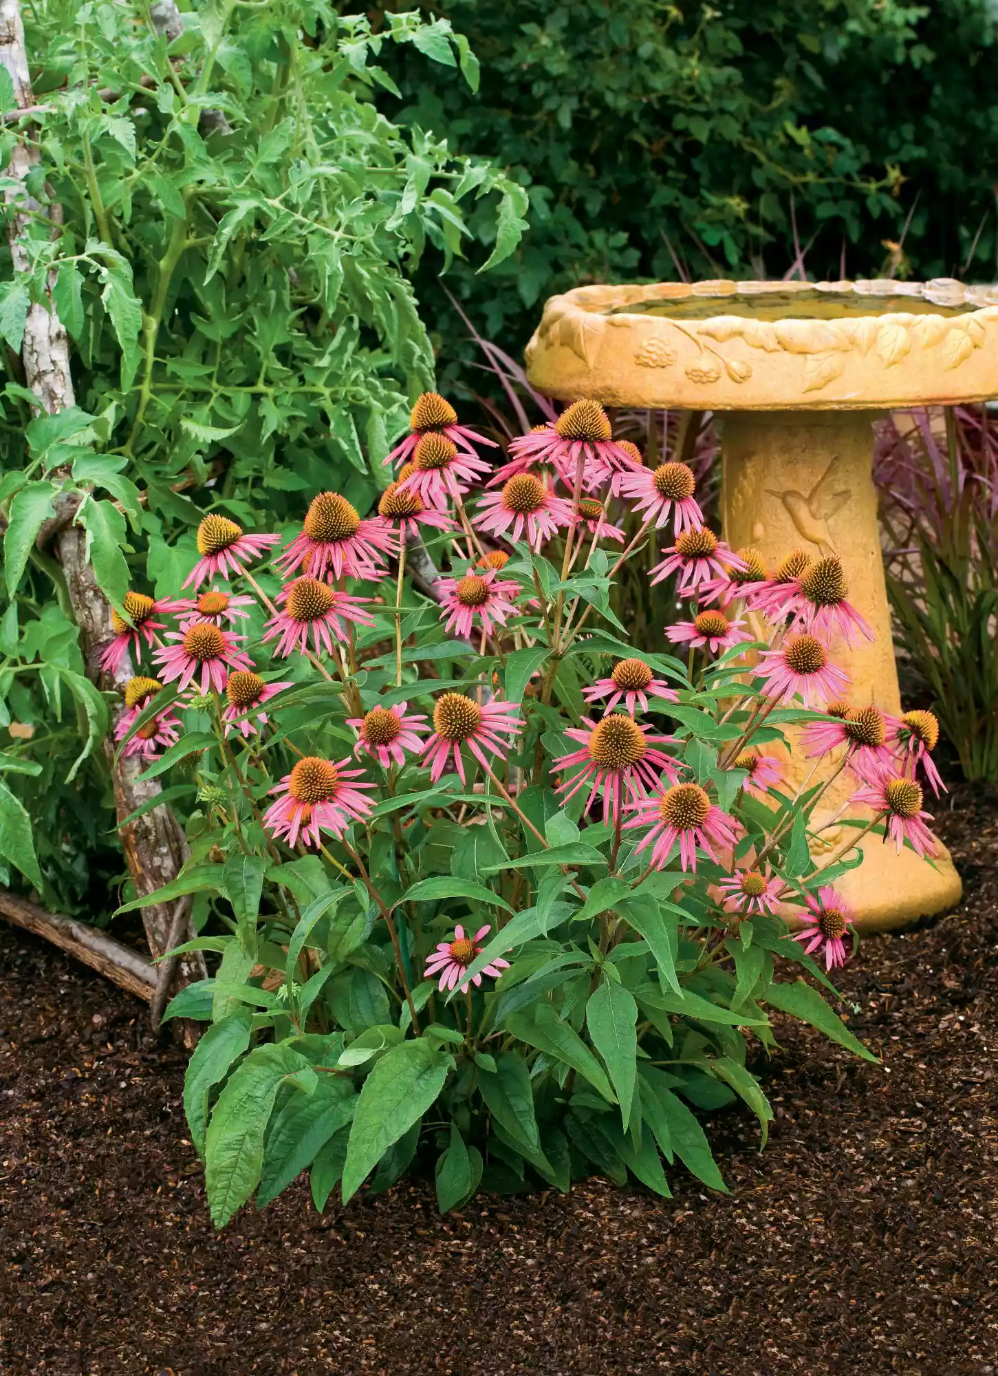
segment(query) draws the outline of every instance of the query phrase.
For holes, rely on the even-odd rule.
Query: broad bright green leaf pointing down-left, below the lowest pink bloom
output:
[[[422,1039],[403,1042],[378,1061],[364,1080],[353,1115],[344,1165],[344,1204],[392,1143],[436,1102],[451,1064],[448,1055]]]

